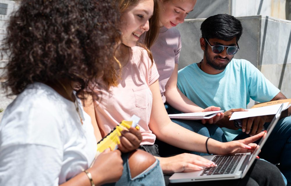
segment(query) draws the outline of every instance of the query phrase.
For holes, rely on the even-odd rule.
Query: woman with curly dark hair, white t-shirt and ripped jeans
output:
[[[107,151],[89,168],[97,141],[79,98],[90,81],[93,87],[99,80],[103,88],[116,84],[118,22],[111,0],[20,2],[4,40],[4,87],[17,98],[0,124],[0,185],[93,186],[121,175],[115,185],[164,184],[155,158],[143,151],[123,157]],[[130,131],[122,138],[139,144],[140,132]]]

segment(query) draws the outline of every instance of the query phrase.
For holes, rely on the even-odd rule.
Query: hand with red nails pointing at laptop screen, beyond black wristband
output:
[[[253,143],[264,135],[264,132],[260,132],[255,136],[251,136],[249,138],[245,138],[243,140],[236,140],[222,143],[222,147],[219,148],[219,154],[235,154],[235,153],[245,153],[251,152],[255,150],[257,144]]]

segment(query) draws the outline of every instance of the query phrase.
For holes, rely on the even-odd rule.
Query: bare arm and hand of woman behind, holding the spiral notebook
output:
[[[167,102],[173,106],[175,109],[182,111],[184,113],[190,112],[207,112],[207,111],[219,111],[220,107],[210,106],[206,109],[201,108],[196,105],[194,102],[189,100],[177,86],[178,79],[178,64],[175,64],[174,71],[166,84],[166,91],[164,93]],[[208,123],[212,124],[217,122],[219,119],[223,118],[223,113],[217,114],[214,118],[208,120]],[[202,120],[202,123],[205,123],[205,120]]]

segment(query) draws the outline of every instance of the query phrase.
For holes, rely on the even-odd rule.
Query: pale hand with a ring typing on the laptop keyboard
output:
[[[195,154],[188,153],[183,153],[167,158],[159,158],[159,160],[164,174],[172,174],[174,172],[200,171],[204,169],[204,167],[217,166],[210,160]]]

